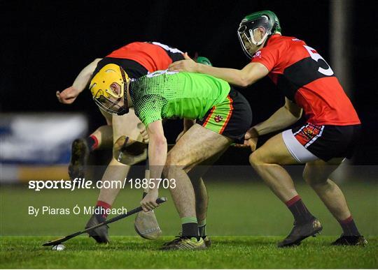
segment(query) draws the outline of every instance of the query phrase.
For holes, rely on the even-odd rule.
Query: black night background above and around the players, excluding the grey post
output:
[[[377,4],[354,1],[351,8],[351,89],[363,122],[354,163],[377,164]],[[1,111],[83,112],[93,130],[105,121],[89,91],[73,105],[55,97],[93,59],[133,41],[158,41],[192,56],[199,52],[214,66],[242,68],[248,59],[237,27],[246,14],[265,9],[278,15],[283,35],[303,39],[332,67],[328,1],[1,1]],[[254,123],[283,104],[267,78],[241,92],[251,102]],[[179,131],[179,124],[171,123],[169,142]],[[226,158],[236,154],[231,150]]]

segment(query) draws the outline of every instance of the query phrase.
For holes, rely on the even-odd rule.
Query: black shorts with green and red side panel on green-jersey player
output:
[[[231,87],[225,101],[212,107],[197,123],[235,142],[244,142],[244,135],[252,124],[251,106],[241,93]]]

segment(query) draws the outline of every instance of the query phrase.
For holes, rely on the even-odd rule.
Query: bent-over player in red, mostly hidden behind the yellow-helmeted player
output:
[[[121,66],[130,77],[139,78],[156,70],[165,70],[170,63],[181,59],[183,59],[183,52],[162,43],[130,43],[111,52],[104,59],[95,59],[81,70],[71,87],[68,87],[62,93],[57,91],[56,95],[61,103],[73,103],[87,87],[91,78],[110,63]],[[112,76],[113,74],[109,72],[104,77],[111,80]],[[83,179],[84,166],[90,152],[100,147],[113,147],[113,158],[106,168],[102,181],[124,181],[130,170],[130,165],[146,159],[147,144],[144,144],[148,143],[146,129],[132,109],[130,113],[123,116],[112,116],[103,110],[100,111],[106,118],[107,125],[100,126],[89,137],[73,141],[69,175],[71,179],[76,177]],[[200,183],[200,181],[198,182]],[[86,227],[92,227],[106,220],[106,211],[111,209],[119,191],[120,186],[112,186],[111,188],[103,186],[101,188],[96,205],[99,214],[94,214]],[[144,195],[146,195],[146,191]],[[153,211],[138,213],[134,225],[141,237],[155,239],[161,234]],[[108,227],[99,227],[91,232],[90,236],[98,243],[107,243],[109,242]]]

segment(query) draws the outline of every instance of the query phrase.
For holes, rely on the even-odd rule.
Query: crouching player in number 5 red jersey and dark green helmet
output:
[[[339,221],[343,234],[334,245],[365,245],[353,221],[345,197],[328,177],[350,158],[360,133],[360,120],[328,63],[304,41],[281,36],[276,15],[269,10],[247,15],[238,36],[251,59],[241,70],[203,66],[190,60],[172,63],[169,70],[207,73],[247,87],[268,75],[283,91],[286,102],[269,119],[246,133],[245,144],[253,153],[253,168],[274,194],[293,213],[293,230],[278,246],[295,246],[322,230],[321,223],[305,207],[293,180],[281,165],[305,163],[303,177]],[[300,119],[307,123],[270,138],[255,150],[260,135],[282,130]]]

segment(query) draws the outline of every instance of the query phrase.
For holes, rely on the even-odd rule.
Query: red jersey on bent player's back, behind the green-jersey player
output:
[[[136,61],[153,73],[167,69],[174,61],[183,60],[183,52],[162,43],[134,42],[120,47],[106,57]]]

